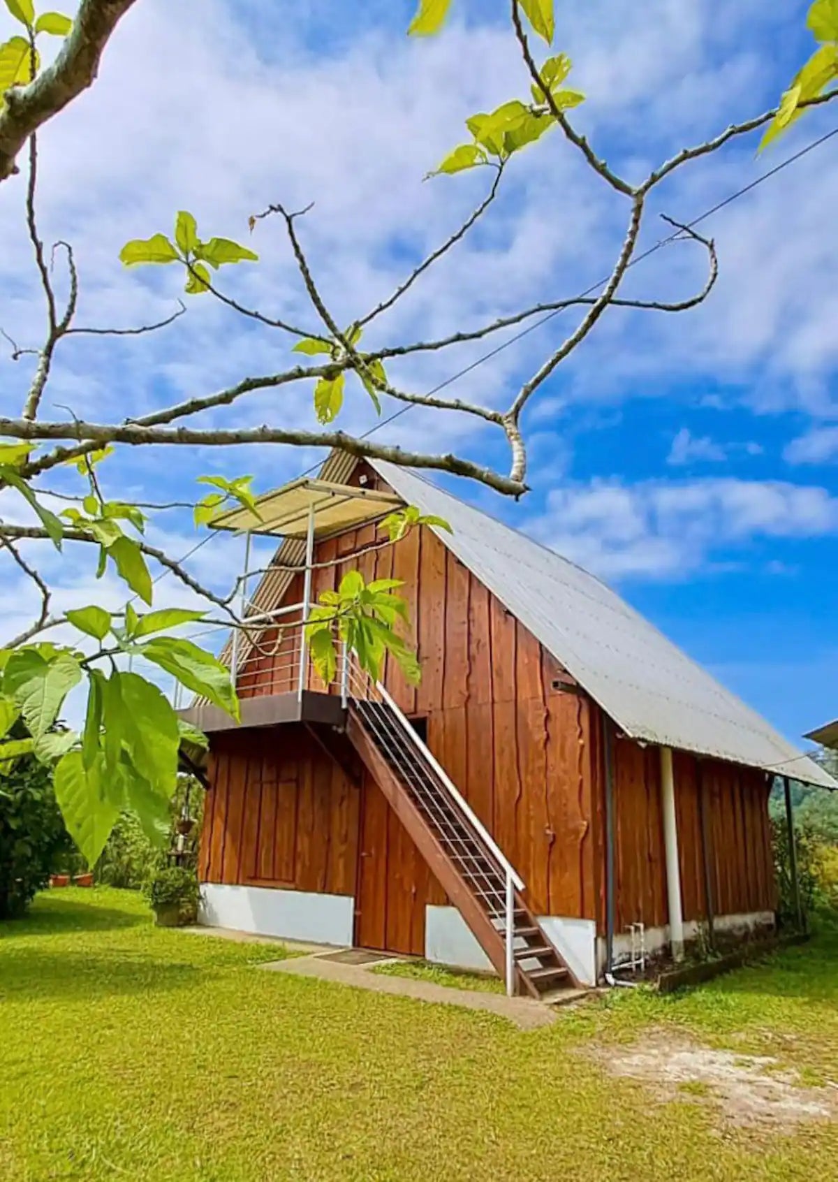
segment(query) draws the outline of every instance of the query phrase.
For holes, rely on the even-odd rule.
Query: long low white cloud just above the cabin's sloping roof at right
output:
[[[554,489],[530,532],[612,578],[678,579],[753,539],[838,533],[838,498],[781,481],[593,481]],[[778,570],[778,569],[774,569]]]

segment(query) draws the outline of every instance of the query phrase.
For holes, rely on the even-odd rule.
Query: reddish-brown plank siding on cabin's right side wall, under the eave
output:
[[[714,915],[773,910],[765,773],[675,752],[673,774],[684,920],[703,921],[708,914],[704,834]],[[616,929],[638,921],[663,927],[668,907],[660,748],[616,740],[615,813]]]

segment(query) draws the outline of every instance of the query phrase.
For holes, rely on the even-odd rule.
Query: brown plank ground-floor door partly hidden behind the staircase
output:
[[[355,943],[424,955],[429,872],[407,830],[375,780],[364,774]]]

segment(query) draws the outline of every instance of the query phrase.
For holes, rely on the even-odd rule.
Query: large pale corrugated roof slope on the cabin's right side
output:
[[[329,467],[338,462],[330,456],[321,476],[340,479]],[[838,787],[599,579],[416,473],[368,462],[450,524],[434,532],[628,735]]]

